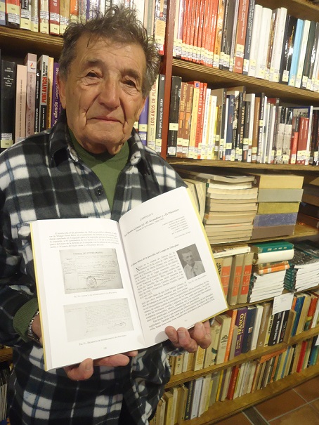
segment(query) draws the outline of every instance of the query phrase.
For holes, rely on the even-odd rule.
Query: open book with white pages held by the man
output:
[[[39,220],[31,233],[46,370],[152,346],[167,325],[190,328],[227,309],[185,188],[119,223]]]

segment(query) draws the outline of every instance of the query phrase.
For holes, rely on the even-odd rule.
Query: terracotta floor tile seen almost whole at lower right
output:
[[[305,401],[299,394],[293,390],[289,390],[285,391],[285,393],[275,395],[275,397],[263,401],[263,403],[259,403],[255,408],[269,421],[304,404]]]

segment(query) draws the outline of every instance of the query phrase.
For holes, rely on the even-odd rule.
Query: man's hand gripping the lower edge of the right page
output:
[[[176,347],[184,348],[190,353],[197,351],[198,346],[207,348],[211,343],[210,325],[207,320],[204,323],[195,323],[195,326],[189,331],[185,327],[179,327],[177,330],[168,326],[165,333],[169,340]]]

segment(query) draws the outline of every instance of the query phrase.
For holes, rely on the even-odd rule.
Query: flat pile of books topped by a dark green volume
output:
[[[254,252],[250,278],[249,302],[261,301],[282,294],[289,260],[294,256],[294,245],[278,240],[250,245]]]

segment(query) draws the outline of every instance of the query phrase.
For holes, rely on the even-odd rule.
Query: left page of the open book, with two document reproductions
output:
[[[46,368],[144,348],[118,223],[74,218],[31,228]]]

